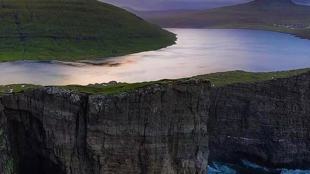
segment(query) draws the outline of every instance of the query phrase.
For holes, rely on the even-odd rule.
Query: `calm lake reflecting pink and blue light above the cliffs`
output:
[[[230,70],[253,72],[310,67],[310,41],[269,31],[242,29],[168,29],[177,44],[117,58],[66,63],[0,63],[0,85],[67,85],[154,81]]]

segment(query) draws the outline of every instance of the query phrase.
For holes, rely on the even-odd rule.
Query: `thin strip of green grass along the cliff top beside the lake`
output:
[[[278,78],[286,78],[301,73],[306,73],[310,71],[310,68],[289,70],[289,71],[279,71],[279,72],[267,72],[267,73],[252,73],[244,71],[230,71],[230,72],[220,72],[220,73],[210,73],[194,76],[194,78],[207,78],[211,81],[212,86],[223,86],[231,83],[242,83],[242,82],[258,82],[266,80],[274,80]],[[189,79],[189,78],[184,78]],[[120,92],[132,92],[138,88],[147,87],[155,84],[169,84],[173,80],[159,80],[154,82],[142,82],[142,83],[118,83],[115,85],[105,86],[105,87],[95,87],[95,86],[81,86],[81,85],[67,85],[67,86],[57,86],[66,89],[77,89],[80,92],[88,94],[112,94]],[[42,87],[38,85],[30,84],[18,84],[18,85],[6,85],[0,86],[0,95],[10,94],[9,90],[13,89],[13,94],[23,92],[27,89],[33,87]]]

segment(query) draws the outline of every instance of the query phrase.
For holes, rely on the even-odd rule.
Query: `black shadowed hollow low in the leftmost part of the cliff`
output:
[[[62,166],[49,158],[51,152],[22,123],[8,120],[7,124],[17,174],[64,174]]]

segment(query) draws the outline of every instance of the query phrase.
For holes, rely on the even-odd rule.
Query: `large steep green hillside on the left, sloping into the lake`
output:
[[[0,61],[110,57],[174,40],[174,34],[96,0],[0,0]]]

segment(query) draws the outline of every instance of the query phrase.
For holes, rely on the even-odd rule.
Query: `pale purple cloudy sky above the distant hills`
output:
[[[136,10],[205,10],[220,6],[235,5],[251,0],[100,0],[119,7]],[[295,3],[310,5],[310,0],[293,0]]]

